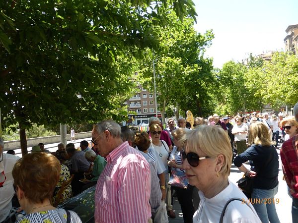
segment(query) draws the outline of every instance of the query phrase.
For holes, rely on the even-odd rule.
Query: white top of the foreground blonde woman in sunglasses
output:
[[[240,198],[248,201],[235,184],[230,180],[228,183],[229,185],[213,198],[206,198],[203,192],[199,191],[201,202],[193,216],[193,223],[219,223],[224,205],[229,199]],[[225,209],[223,223],[261,223],[252,205],[249,206],[252,210],[241,201],[231,201]]]

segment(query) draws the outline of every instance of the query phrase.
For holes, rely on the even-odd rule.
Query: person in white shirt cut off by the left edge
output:
[[[19,157],[3,153],[4,142],[0,138],[0,222],[3,222],[11,209],[14,195],[12,169]]]

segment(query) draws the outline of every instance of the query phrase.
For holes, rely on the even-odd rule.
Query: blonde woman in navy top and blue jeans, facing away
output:
[[[247,176],[254,178],[252,201],[260,199],[261,202],[253,202],[262,223],[280,223],[276,213],[274,196],[278,192],[278,153],[274,148],[270,132],[265,123],[257,121],[250,125],[248,144],[251,145],[245,152],[234,159],[234,165]],[[247,169],[243,163],[252,161],[254,169]]]

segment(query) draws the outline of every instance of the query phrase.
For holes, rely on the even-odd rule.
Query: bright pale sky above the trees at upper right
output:
[[[289,25],[298,24],[298,0],[193,0],[195,30],[213,29],[215,38],[205,56],[215,67],[241,61],[250,53],[284,51]]]

